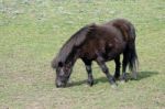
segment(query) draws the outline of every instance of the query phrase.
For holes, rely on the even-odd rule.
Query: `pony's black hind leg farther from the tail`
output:
[[[119,79],[119,77],[120,77],[120,65],[121,65],[120,55],[114,58],[114,63],[116,63],[114,78]]]

